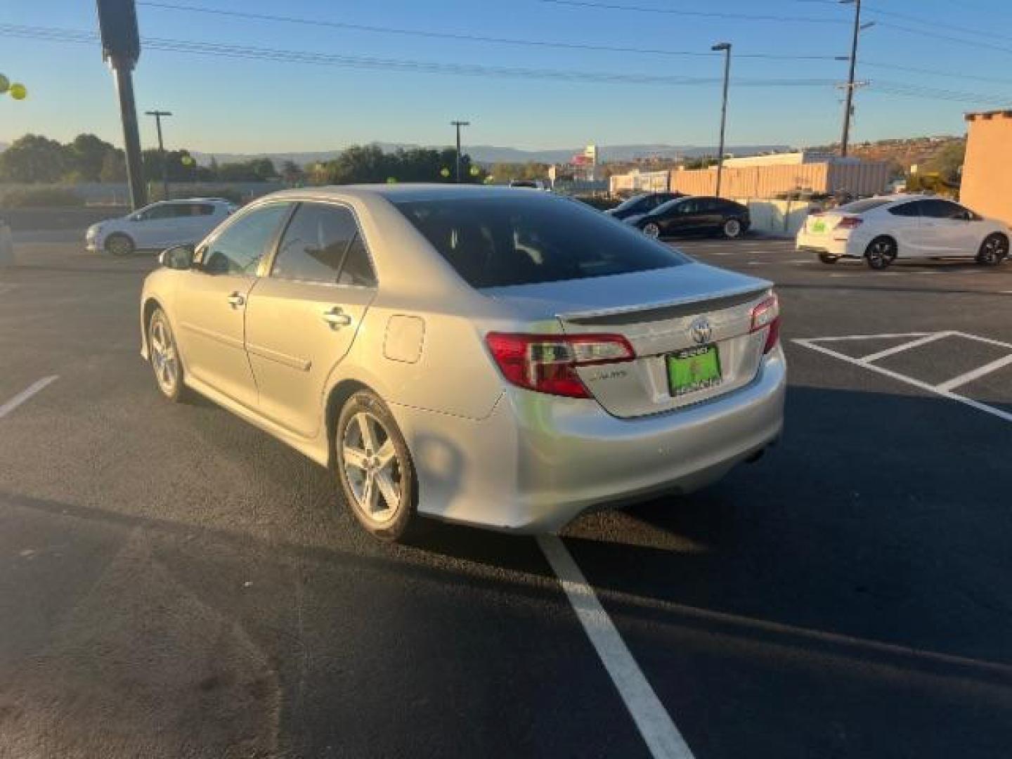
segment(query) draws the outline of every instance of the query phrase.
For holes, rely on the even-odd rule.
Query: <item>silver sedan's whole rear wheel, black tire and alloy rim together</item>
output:
[[[341,409],[334,461],[358,523],[381,540],[404,540],[418,521],[415,469],[404,435],[374,393],[359,391]]]

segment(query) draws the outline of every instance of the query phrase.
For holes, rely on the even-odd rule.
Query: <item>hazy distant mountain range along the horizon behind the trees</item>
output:
[[[398,148],[443,148],[446,146],[419,146],[409,143],[374,143],[384,152],[390,153]],[[727,151],[739,156],[751,156],[757,153],[767,153],[770,151],[787,150],[786,145],[734,145],[728,146]],[[583,151],[583,148],[560,148],[545,150],[520,150],[519,148],[506,148],[494,145],[466,145],[465,151],[475,161],[480,163],[563,163],[572,158],[575,154]],[[600,161],[632,161],[638,158],[697,158],[699,156],[713,155],[716,153],[715,146],[699,145],[599,145],[597,148]],[[330,151],[307,151],[299,153],[199,153],[193,151],[191,155],[200,165],[210,163],[212,155],[219,163],[233,163],[236,161],[248,161],[253,158],[269,158],[275,165],[280,165],[285,161],[293,161],[300,166],[315,163],[316,161],[329,161],[336,158],[341,153],[340,150]]]

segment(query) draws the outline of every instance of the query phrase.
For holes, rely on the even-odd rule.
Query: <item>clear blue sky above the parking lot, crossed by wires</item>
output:
[[[283,14],[346,23],[587,45],[708,51],[730,40],[736,54],[840,55],[852,19],[833,0],[597,0],[727,17],[646,13],[563,5],[544,0],[166,0],[177,4]],[[588,0],[593,2],[595,0]],[[871,86],[857,95],[856,140],[961,134],[965,110],[995,102],[917,99],[876,92],[879,82],[944,88],[1012,104],[1012,2],[1008,0],[865,0],[877,25],[861,37],[859,59],[937,69],[979,81],[859,65]],[[875,11],[901,14],[888,16]],[[345,56],[525,69],[720,77],[719,57],[680,57],[556,50],[446,40],[181,12],[140,5],[143,37],[299,50]],[[740,19],[736,14],[783,16]],[[0,24],[94,31],[91,0],[5,0]],[[899,24],[927,35],[905,32]],[[971,33],[979,31],[982,33]],[[988,32],[987,35],[983,32]],[[932,38],[947,34],[976,45]],[[0,141],[26,133],[67,140],[91,132],[121,144],[112,79],[97,43],[71,45],[3,34],[0,73],[23,81],[25,101],[0,98]],[[846,63],[738,58],[732,70],[729,144],[813,145],[838,139],[840,93],[832,86],[747,87],[739,79],[842,80]],[[479,78],[372,71],[145,50],[136,72],[138,109],[175,112],[169,147],[206,152],[332,150],[372,140],[448,144],[448,121],[474,125],[466,143],[521,148],[600,144],[711,145],[718,84],[674,86]],[[155,143],[142,116],[142,141]]]

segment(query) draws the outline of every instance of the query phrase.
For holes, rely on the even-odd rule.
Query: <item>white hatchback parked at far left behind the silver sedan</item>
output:
[[[93,224],[85,235],[85,245],[90,251],[105,250],[124,256],[135,250],[195,244],[236,207],[221,197],[161,200],[130,216]]]

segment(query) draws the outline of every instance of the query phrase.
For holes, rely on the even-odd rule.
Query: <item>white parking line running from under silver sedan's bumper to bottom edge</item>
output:
[[[587,638],[611,676],[625,707],[654,759],[692,759],[675,727],[614,623],[587,583],[573,556],[557,535],[538,535],[537,544],[559,578]]]

